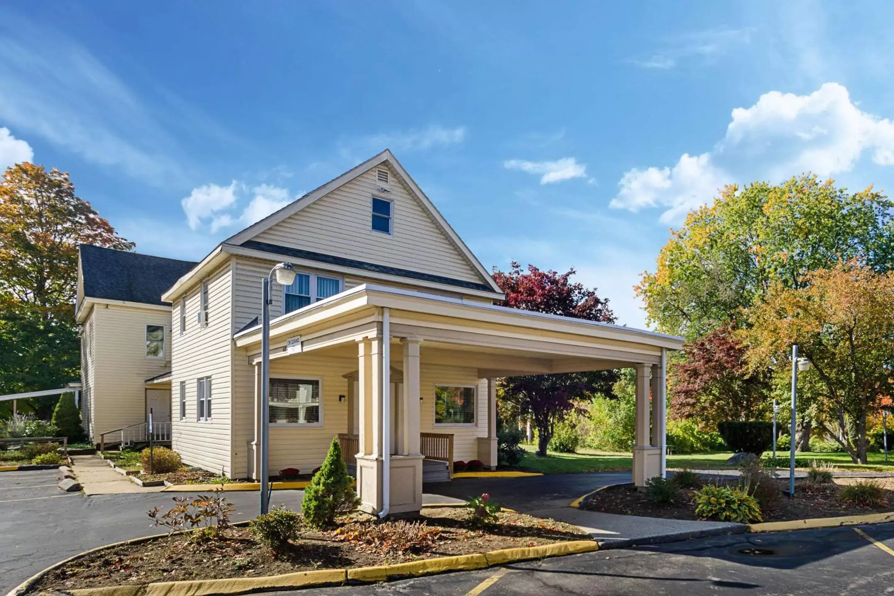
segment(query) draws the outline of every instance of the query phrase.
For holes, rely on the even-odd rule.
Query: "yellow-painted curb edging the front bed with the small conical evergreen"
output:
[[[248,522],[239,522],[233,525],[247,525]],[[115,542],[96,549],[85,550],[73,557],[66,558],[51,567],[47,567],[36,575],[33,575],[18,587],[8,592],[6,596],[20,596],[28,592],[30,588],[58,567],[74,559],[97,552],[121,546],[124,544],[139,544],[140,542],[154,540],[167,534],[156,534],[145,538],[137,538],[130,541]],[[263,592],[269,590],[294,590],[299,588],[322,587],[326,585],[342,585],[348,583],[374,583],[384,582],[398,577],[417,577],[420,575],[434,575],[448,571],[468,571],[506,565],[536,558],[562,557],[583,552],[599,550],[596,541],[568,541],[544,544],[530,548],[491,550],[471,555],[459,555],[456,557],[429,558],[397,565],[382,565],[378,567],[357,567],[353,569],[319,569],[316,571],[300,571],[285,575],[267,575],[265,577],[233,577],[227,579],[194,580],[186,582],[156,582],[141,585],[118,585],[105,588],[83,588],[69,590],[72,596],[215,596],[216,594],[245,594],[249,592]]]

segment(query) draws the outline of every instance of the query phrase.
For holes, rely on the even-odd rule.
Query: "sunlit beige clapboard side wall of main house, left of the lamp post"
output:
[[[173,449],[183,463],[231,474],[232,264],[207,277],[208,324],[198,324],[199,288],[186,292],[186,332],[180,334],[180,297],[173,307]],[[196,382],[211,377],[211,420],[198,421]],[[180,382],[186,382],[186,418],[179,418]]]

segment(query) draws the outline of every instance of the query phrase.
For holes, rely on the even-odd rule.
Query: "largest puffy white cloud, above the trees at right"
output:
[[[683,154],[673,166],[625,172],[610,206],[666,207],[662,222],[675,222],[725,184],[850,172],[864,152],[875,164],[894,165],[894,123],[860,110],[847,88],[826,83],[806,96],[771,91],[751,107],[734,109],[726,135],[711,151]]]

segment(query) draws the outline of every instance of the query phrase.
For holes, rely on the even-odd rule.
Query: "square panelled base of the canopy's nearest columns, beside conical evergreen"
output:
[[[389,515],[417,513],[422,509],[423,456],[392,456]],[[357,456],[357,494],[360,510],[377,516],[384,509],[382,457]]]

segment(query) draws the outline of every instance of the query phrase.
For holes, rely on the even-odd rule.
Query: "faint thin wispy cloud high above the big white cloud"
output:
[[[713,62],[736,46],[751,42],[752,29],[718,27],[687,33],[669,39],[654,54],[630,62],[642,68],[671,69],[687,60]]]

